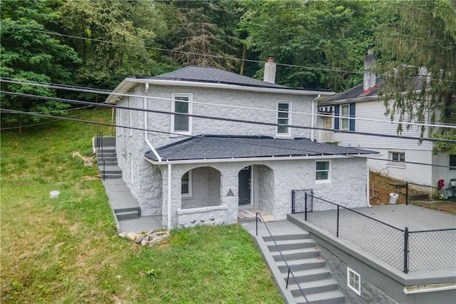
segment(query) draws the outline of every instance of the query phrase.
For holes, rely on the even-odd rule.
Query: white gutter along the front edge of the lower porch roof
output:
[[[174,165],[182,165],[187,163],[236,163],[236,162],[252,162],[252,161],[295,161],[295,160],[306,160],[306,159],[336,159],[336,158],[363,158],[363,156],[369,155],[377,155],[378,153],[367,153],[367,154],[343,154],[343,155],[316,155],[316,156],[265,156],[265,157],[243,157],[243,158],[198,158],[198,159],[183,159],[177,161],[155,161],[147,156],[144,156],[145,160],[153,165],[166,165],[166,164],[174,164]]]

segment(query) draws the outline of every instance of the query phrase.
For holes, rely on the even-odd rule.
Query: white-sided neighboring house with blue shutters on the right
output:
[[[359,86],[318,101],[318,126],[333,131],[318,131],[319,142],[337,142],[339,146],[350,146],[380,152],[380,160],[368,159],[368,168],[410,183],[425,186],[437,186],[441,178],[445,186],[450,186],[450,180],[456,178],[456,170],[448,168],[456,166],[456,156],[447,153],[432,153],[433,143],[416,139],[366,136],[357,133],[341,133],[340,131],[355,131],[363,133],[378,133],[398,136],[397,120],[390,121],[385,115],[383,100],[378,98],[378,86],[384,80],[371,73],[369,67],[375,61],[373,54],[368,54],[365,61],[363,83]],[[358,119],[351,119],[358,118]],[[366,118],[366,119],[363,119]],[[420,137],[420,129],[411,126],[400,134],[401,136]],[[427,163],[436,166],[423,166]]]

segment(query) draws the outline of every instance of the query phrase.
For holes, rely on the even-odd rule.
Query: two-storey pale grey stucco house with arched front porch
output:
[[[265,74],[275,77],[273,62]],[[142,215],[161,215],[164,228],[236,223],[242,208],[284,219],[293,189],[366,206],[366,158],[359,156],[375,152],[311,140],[309,113],[318,96],[331,94],[202,66],[125,78],[107,102],[139,111],[116,111],[118,166]]]

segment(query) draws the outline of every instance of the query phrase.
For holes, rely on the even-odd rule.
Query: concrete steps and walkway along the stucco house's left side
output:
[[[123,181],[122,170],[118,167],[115,137],[103,137],[99,147],[96,147],[95,138],[93,143],[98,169],[115,217],[118,221],[140,218],[141,208]]]

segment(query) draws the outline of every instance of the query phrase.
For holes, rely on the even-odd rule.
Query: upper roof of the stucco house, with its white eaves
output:
[[[276,83],[269,83],[259,79],[242,76],[229,71],[209,66],[187,66],[177,71],[158,76],[132,76],[125,78],[108,96],[106,103],[116,103],[123,93],[130,91],[139,83],[150,83],[161,86],[198,86],[212,88],[227,88],[238,91],[257,91],[266,93],[289,93],[297,95],[323,95],[334,93],[324,90],[306,90],[290,88]]]

